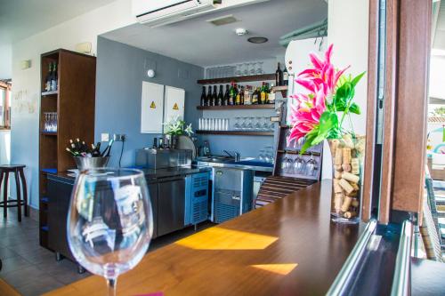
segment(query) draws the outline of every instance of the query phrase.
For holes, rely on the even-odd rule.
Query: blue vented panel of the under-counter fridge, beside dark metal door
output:
[[[184,225],[196,225],[208,219],[208,181],[210,172],[199,172],[185,180]]]

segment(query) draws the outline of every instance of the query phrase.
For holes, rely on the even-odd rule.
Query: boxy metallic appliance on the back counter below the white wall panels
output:
[[[144,148],[136,151],[136,165],[149,169],[190,166],[191,150]]]

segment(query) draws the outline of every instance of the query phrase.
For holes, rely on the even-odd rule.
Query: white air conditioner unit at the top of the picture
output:
[[[152,28],[190,18],[213,10],[214,0],[133,0],[132,11],[137,20]]]

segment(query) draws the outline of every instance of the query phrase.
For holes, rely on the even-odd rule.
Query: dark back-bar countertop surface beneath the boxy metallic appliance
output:
[[[212,170],[212,168],[190,165],[187,167],[174,167],[174,168],[158,169],[158,170],[155,169],[140,169],[140,170],[144,172],[145,177],[150,181],[150,180],[157,180],[160,178],[190,175],[198,172],[209,172]],[[54,172],[54,173],[48,172],[48,175],[52,176],[53,179],[68,181],[70,183],[73,183],[74,180],[76,180],[76,177],[74,177],[73,173],[71,172]]]

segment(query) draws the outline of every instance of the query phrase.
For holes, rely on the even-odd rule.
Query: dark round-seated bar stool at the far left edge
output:
[[[17,213],[19,216],[19,222],[21,221],[21,206],[25,207],[25,216],[28,217],[28,191],[27,191],[27,181],[25,179],[25,173],[23,172],[23,168],[26,165],[23,164],[3,164],[0,165],[0,192],[3,188],[3,201],[0,202],[0,207],[4,208],[4,218],[7,217],[8,211],[7,208],[17,207]],[[17,188],[17,199],[8,199],[8,179],[9,173],[13,172],[15,177],[15,185]],[[20,177],[20,179],[19,179]],[[3,182],[4,180],[4,182]],[[20,180],[21,187],[23,189],[23,200],[21,200],[20,196]]]

